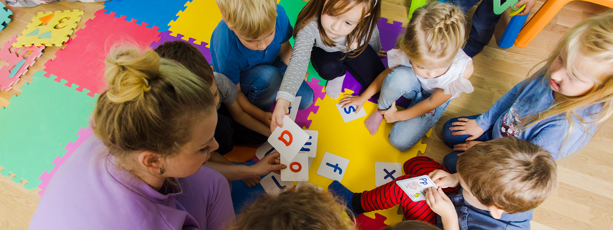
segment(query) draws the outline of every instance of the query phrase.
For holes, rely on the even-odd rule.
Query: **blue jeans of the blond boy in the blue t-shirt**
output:
[[[286,69],[287,65],[281,59],[277,59],[272,65],[254,65],[251,69],[240,73],[240,90],[253,105],[264,111],[270,111]],[[302,81],[296,96],[302,97],[298,109],[307,109],[313,104],[315,97],[313,89],[306,81]]]

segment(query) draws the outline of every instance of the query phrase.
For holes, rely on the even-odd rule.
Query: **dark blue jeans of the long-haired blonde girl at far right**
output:
[[[468,119],[477,119],[477,117],[481,116],[481,114],[479,115],[473,115],[473,116],[465,116],[463,118],[468,118]],[[449,130],[449,127],[456,127],[459,125],[452,125],[452,122],[457,122],[458,118],[462,118],[462,117],[455,117],[452,119],[449,119],[449,121],[447,121],[444,125],[443,125],[443,142],[449,146],[450,148],[453,148],[456,144],[463,144],[466,142],[466,138],[470,137],[470,135],[451,135],[451,133],[456,132],[456,131],[451,131]],[[474,139],[474,141],[489,141],[490,139],[492,139],[492,128],[490,128],[489,130],[485,130],[485,132],[479,136],[479,138]],[[461,154],[464,151],[453,151],[451,152],[451,154],[447,154],[445,156],[445,158],[443,159],[443,165],[445,166],[445,168],[449,169],[449,171],[451,171],[451,173],[457,173],[457,169],[455,168],[455,165],[457,165],[458,162],[458,154]]]

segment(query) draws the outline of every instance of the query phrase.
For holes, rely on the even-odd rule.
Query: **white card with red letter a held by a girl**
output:
[[[268,137],[268,143],[286,159],[294,159],[302,146],[307,143],[308,137],[308,134],[286,115],[283,117],[283,128],[276,127]]]

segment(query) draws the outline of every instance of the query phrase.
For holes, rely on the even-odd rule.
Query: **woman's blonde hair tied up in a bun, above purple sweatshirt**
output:
[[[193,122],[215,111],[207,82],[153,50],[115,48],[105,64],[109,86],[97,100],[92,126],[120,160],[142,150],[177,153],[191,140]]]

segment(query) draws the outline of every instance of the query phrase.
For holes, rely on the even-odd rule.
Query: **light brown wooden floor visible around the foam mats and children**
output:
[[[212,1],[212,0],[194,0]],[[543,4],[538,0],[532,12]],[[390,21],[406,23],[405,0],[383,0],[382,17]],[[39,11],[80,9],[85,11],[83,23],[91,18],[93,12],[101,9],[100,3],[83,4],[63,1],[34,8],[14,8],[13,21],[0,32],[0,41],[4,42],[11,35],[20,34]],[[470,18],[474,9],[468,11]],[[437,161],[451,152],[441,141],[441,125],[451,117],[483,113],[512,86],[524,80],[528,71],[540,61],[546,59],[557,40],[570,27],[594,13],[603,12],[606,7],[582,1],[567,4],[558,15],[541,31],[527,48],[503,50],[492,40],[481,54],[474,57],[474,74],[470,78],[475,91],[462,94],[454,99],[447,112],[436,124],[431,138],[427,140],[426,154]],[[504,13],[495,37],[500,37],[509,20]],[[470,20],[469,20],[470,21]],[[12,91],[0,92],[0,106],[6,100],[20,92],[19,88],[35,72],[44,68],[43,64],[58,50],[56,47],[45,48],[45,54],[30,68]],[[0,111],[1,113],[1,111]],[[10,130],[2,130],[10,132]],[[613,229],[613,122],[607,122],[595,138],[576,154],[558,161],[558,185],[554,195],[539,206],[534,212],[533,229]],[[0,162],[0,165],[2,163]],[[14,176],[14,175],[13,175]],[[37,189],[38,190],[38,189]],[[0,229],[27,229],[29,220],[39,201],[38,191],[29,191],[16,184],[9,177],[0,175]]]

